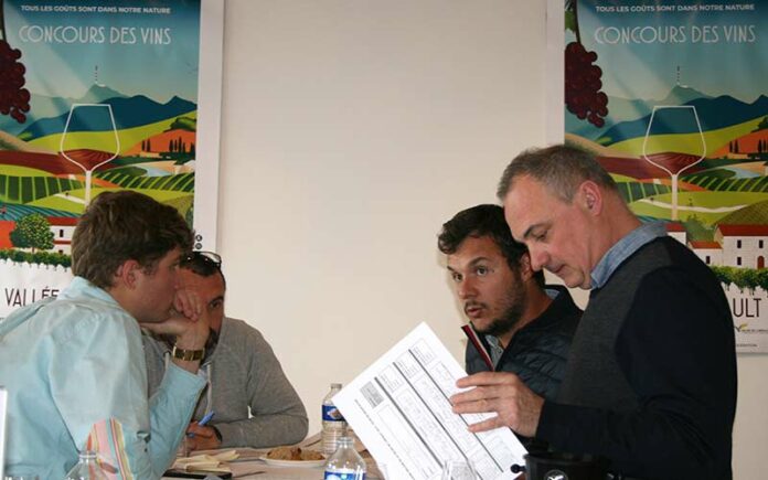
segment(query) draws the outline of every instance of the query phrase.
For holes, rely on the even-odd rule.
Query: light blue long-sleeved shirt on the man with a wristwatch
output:
[[[9,394],[7,474],[64,478],[94,425],[113,420],[118,428],[104,429],[110,445],[98,450],[118,457],[104,458],[118,478],[158,479],[205,381],[173,365],[148,399],[138,322],[75,277],[58,298],[0,322],[0,385]]]

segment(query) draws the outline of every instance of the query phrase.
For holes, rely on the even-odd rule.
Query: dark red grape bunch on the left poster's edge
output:
[[[0,114],[23,124],[30,111],[30,90],[23,88],[26,67],[19,58],[21,51],[0,40]]]

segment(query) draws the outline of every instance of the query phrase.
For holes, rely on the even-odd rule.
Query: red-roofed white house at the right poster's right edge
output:
[[[714,239],[723,246],[723,265],[766,267],[768,225],[717,225]]]

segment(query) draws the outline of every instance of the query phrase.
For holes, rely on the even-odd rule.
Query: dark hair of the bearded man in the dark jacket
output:
[[[452,255],[470,236],[491,238],[499,246],[510,268],[519,271],[520,258],[527,253],[527,248],[512,238],[510,226],[504,220],[504,209],[499,205],[482,204],[462,210],[442,224],[442,231],[437,237],[437,247],[444,254]],[[533,277],[540,287],[544,286],[543,271],[534,273]]]

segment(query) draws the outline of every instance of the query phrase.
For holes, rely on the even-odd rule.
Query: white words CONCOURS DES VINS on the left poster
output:
[[[171,29],[136,26],[23,25],[19,29],[23,43],[114,43],[132,45],[170,45]]]

